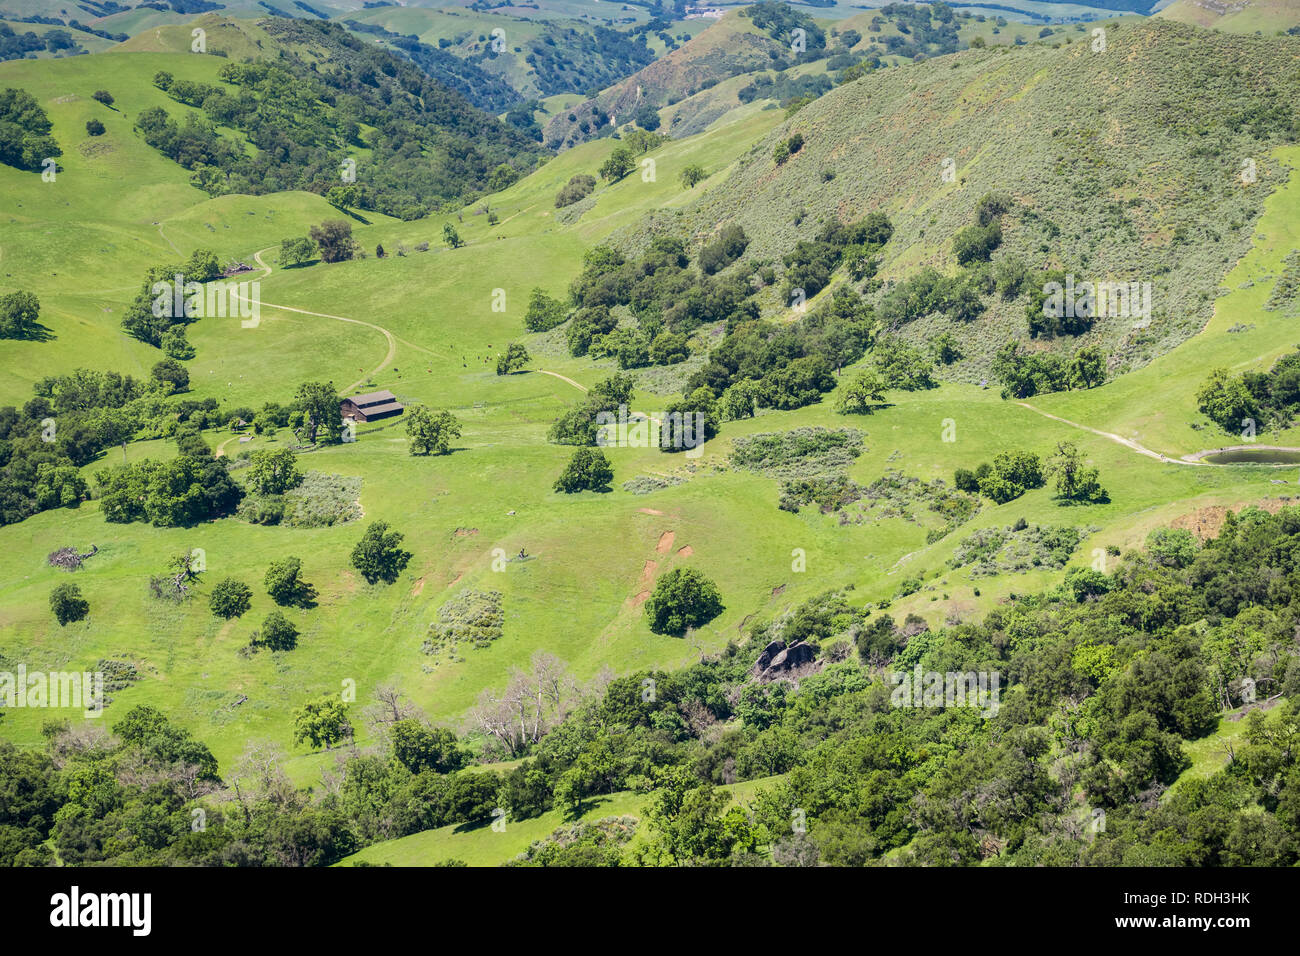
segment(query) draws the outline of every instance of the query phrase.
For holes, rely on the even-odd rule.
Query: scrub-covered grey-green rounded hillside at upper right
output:
[[[1248,247],[1264,199],[1284,178],[1270,150],[1294,122],[1286,108],[1277,125],[1256,117],[1270,108],[1261,104],[1294,98],[1288,64],[1297,51],[1291,39],[1149,22],[1112,27],[1106,52],[1082,38],[876,72],[785,120],[724,186],[681,217],[660,217],[658,229],[702,241],[736,222],[751,241],[746,256],[779,264],[831,217],[881,211],[897,230],[880,272],[889,282],[924,265],[952,273],[954,234],[974,222],[983,196],[1006,193],[1014,211],[994,268],[1019,258],[1078,281],[1152,284],[1149,325],[1100,317],[1080,337],[1046,343],[1100,343],[1113,372],[1123,372],[1199,330]],[[796,133],[802,148],[777,165],[776,143]],[[1253,183],[1242,181],[1247,159]],[[988,356],[1008,338],[1028,337],[1023,298],[992,295],[987,304],[953,329],[967,358],[950,373],[965,381],[987,377]],[[926,339],[945,325],[932,316],[906,334]]]

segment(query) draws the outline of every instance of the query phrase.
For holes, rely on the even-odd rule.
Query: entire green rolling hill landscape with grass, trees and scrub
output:
[[[358,7],[0,62],[0,675],[109,675],[0,708],[0,862],[1300,860],[1300,38]],[[257,323],[142,332],[209,259]]]

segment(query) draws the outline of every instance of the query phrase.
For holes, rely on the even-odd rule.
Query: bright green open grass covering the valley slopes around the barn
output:
[[[0,83],[31,90],[49,109],[66,166],[56,183],[0,169],[0,222],[6,224],[0,239],[4,289],[38,290],[43,321],[56,336],[44,343],[5,343],[0,403],[26,401],[32,378],[78,365],[147,373],[159,352],[124,337],[117,323],[144,268],[176,256],[169,242],[182,254],[203,245],[247,260],[285,235],[303,234],[308,225],[337,216],[320,198],[307,194],[211,200],[187,185],[185,170],[131,134],[131,118],[164,99],[150,85],[155,70],[165,68],[178,77],[211,81],[217,65],[212,57],[164,53],[0,65]],[[108,114],[110,111],[88,100],[100,87],[118,98],[120,114]],[[69,95],[77,99],[56,101]],[[98,114],[95,111],[108,114],[104,139],[113,148],[86,156],[77,131],[88,116]],[[922,591],[894,604],[892,613],[915,611],[941,624],[949,615],[979,614],[1009,593],[1060,579],[1058,574],[1032,571],[975,581],[966,570],[948,570],[957,541],[975,528],[1002,527],[1022,516],[1032,524],[1095,524],[1101,531],[1080,546],[1075,561],[1082,563],[1091,562],[1096,548],[1139,544],[1150,527],[1188,510],[1278,493],[1279,488],[1269,484],[1274,472],[1265,468],[1161,464],[1002,402],[994,390],[949,384],[892,395],[893,406],[863,419],[835,415],[832,395],[794,412],[729,423],[698,459],[689,481],[645,496],[623,492],[623,483],[662,471],[689,473],[686,463],[654,450],[615,449],[614,488],[619,490],[555,494],[551,483],[571,450],[547,444],[546,428],[578,393],[537,372],[498,377],[491,359],[507,341],[533,341],[521,332],[532,286],[559,294],[593,243],[633,229],[647,212],[668,215],[701,193],[722,191],[737,176],[737,157],[780,122],[776,111],[762,109],[732,118],[654,151],[653,182],[633,174],[602,185],[594,206],[568,225],[558,222],[556,190],[575,173],[594,170],[614,147],[611,140],[567,151],[490,196],[486,203],[500,219],[497,225],[473,215],[472,208],[459,219],[445,215],[417,222],[367,215],[370,222],[358,222],[356,234],[368,251],[380,242],[393,252],[399,242],[413,246],[421,241],[430,242],[430,251],[276,268],[263,280],[266,302],[351,316],[390,330],[396,352],[382,367],[387,345],[381,333],[328,317],[266,307],[257,329],[221,320],[191,326],[191,341],[199,350],[191,363],[196,397],[257,406],[268,399],[289,401],[306,378],[332,378],[341,386],[372,380],[407,403],[455,410],[464,434],[447,457],[408,455],[399,423],[361,428],[358,442],[303,458],[304,468],[361,477],[365,520],[389,520],[407,536],[404,544],[413,558],[395,584],[367,585],[350,568],[348,553],[361,524],[307,529],[228,519],[190,529],[159,529],[105,524],[98,503],[90,502],[0,528],[0,652],[27,662],[31,670],[81,670],[100,658],[134,661],[143,679],[117,695],[108,723],[134,705],[150,704],[205,740],[224,769],[250,741],[268,740],[291,754],[287,770],[295,780],[313,783],[321,770],[333,766],[334,754],[292,747],[291,711],[308,697],[337,692],[344,680],[356,683],[359,702],[378,684],[396,683],[434,719],[459,727],[484,688],[500,687],[510,667],[526,665],[538,649],[567,661],[580,679],[590,679],[604,667],[616,674],[679,667],[698,659],[701,652],[742,637],[757,620],[827,588],[854,584],[857,601],[879,601],[911,576],[923,579]],[[711,173],[694,193],[677,182],[688,163],[699,163]],[[1297,190],[1300,186],[1291,182],[1270,200],[1257,232],[1277,238],[1257,245],[1238,267],[1243,274],[1273,268],[1275,258],[1295,245],[1288,230],[1294,228]],[[467,246],[455,251],[442,246],[446,221],[456,224]],[[162,234],[155,224],[162,225]],[[276,265],[274,251],[268,261]],[[491,311],[494,289],[506,290],[506,312]],[[1251,346],[1253,354],[1284,347],[1282,328],[1268,324],[1271,320],[1258,312],[1260,302],[1262,298],[1243,297],[1232,316],[1256,323],[1261,334],[1273,329],[1271,338]],[[1186,347],[1200,346],[1193,339]],[[1179,352],[1170,356],[1175,364],[1179,360]],[[1169,393],[1169,401],[1186,406],[1190,392],[1184,385],[1192,382],[1195,364],[1188,363],[1179,380],[1183,384]],[[547,356],[536,367],[584,385],[608,373],[571,358]],[[1109,416],[1124,407],[1109,395],[1130,388],[1131,397],[1141,393],[1127,381],[1053,401],[1084,403],[1072,414],[1109,425]],[[653,411],[667,398],[642,389],[636,402]],[[957,424],[953,444],[941,437],[945,419]],[[728,466],[737,436],[845,424],[867,432],[867,450],[850,470],[863,484],[887,468],[924,480],[949,480],[956,467],[972,467],[1004,450],[1009,437],[1017,447],[1039,453],[1070,438],[1100,467],[1113,501],[1066,510],[1041,489],[1001,507],[985,505],[961,529],[927,545],[924,528],[901,519],[840,527],[828,516],[779,511],[776,480]],[[230,434],[217,432],[208,438],[216,445]],[[252,447],[263,444],[269,445],[269,440]],[[230,442],[226,451],[235,454],[239,447]],[[129,460],[170,454],[166,442],[140,442],[126,450]],[[114,449],[87,471],[121,457]],[[476,533],[458,536],[458,529]],[[659,551],[666,532],[672,532],[672,544]],[[91,604],[91,615],[84,623],[60,628],[47,597],[64,572],[47,567],[46,555],[65,545],[84,549],[90,544],[99,545],[99,554],[75,580]],[[205,551],[208,564],[199,597],[181,607],[157,605],[148,597],[148,578],[160,574],[170,555],[192,548]],[[498,548],[506,554],[526,548],[537,557],[494,572]],[[686,548],[689,553],[682,550]],[[793,570],[794,549],[806,553],[806,572]],[[261,589],[265,568],[290,554],[303,559],[304,578],[316,585],[320,606],[289,611],[302,632],[295,650],[240,657],[237,652],[273,606]],[[636,604],[646,588],[647,562],[653,562],[655,576],[684,564],[703,570],[722,591],[724,613],[688,640],[650,633]],[[252,610],[229,623],[207,610],[212,584],[228,575],[255,589]],[[502,592],[504,631],[490,646],[467,650],[463,663],[438,663],[420,646],[438,609],[462,588]],[[237,704],[240,696],[247,700]],[[16,710],[6,715],[3,734],[35,745],[48,717]],[[621,804],[615,800],[594,812],[606,816],[618,806]],[[512,826],[507,836],[521,843],[504,853],[486,845],[462,851],[462,835],[451,832],[421,835],[430,845],[404,858],[469,858],[477,853],[474,858],[498,862],[554,825],[538,823],[536,835],[524,823]],[[486,843],[494,834],[476,831],[471,836]]]

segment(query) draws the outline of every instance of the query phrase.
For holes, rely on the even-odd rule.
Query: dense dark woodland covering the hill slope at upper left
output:
[[[146,142],[192,170],[212,195],[286,189],[326,195],[339,187],[342,161],[365,147],[352,202],[412,220],[491,191],[502,164],[526,169],[540,155],[526,133],[341,23],[277,20],[270,30],[287,40],[274,62],[226,64],[216,85],[155,77],[159,88],[202,113],[178,122],[153,107],[136,118]],[[318,70],[296,49],[329,51],[334,68]],[[257,148],[246,151],[220,126],[242,131]],[[368,140],[363,127],[374,130]]]

